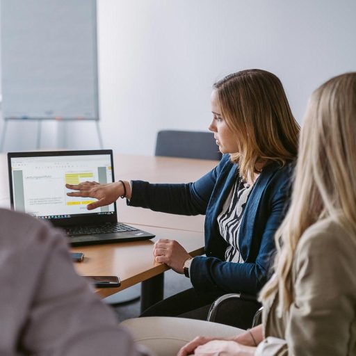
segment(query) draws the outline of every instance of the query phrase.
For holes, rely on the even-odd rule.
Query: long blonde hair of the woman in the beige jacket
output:
[[[261,291],[279,292],[280,311],[293,302],[294,254],[305,230],[323,218],[356,233],[356,72],[336,76],[309,99],[289,211],[275,235],[276,278]]]

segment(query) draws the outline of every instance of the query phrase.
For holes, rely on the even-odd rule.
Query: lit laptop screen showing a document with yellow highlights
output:
[[[92,151],[95,152],[95,151]],[[113,181],[111,151],[31,152],[9,154],[13,207],[42,219],[67,219],[115,214],[115,204],[88,211],[95,199],[68,197],[65,184]]]

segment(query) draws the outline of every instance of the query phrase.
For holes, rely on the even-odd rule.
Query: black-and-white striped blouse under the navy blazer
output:
[[[229,244],[225,251],[225,261],[244,262],[238,248],[238,232],[251,191],[252,186],[237,179],[218,216],[220,234]]]

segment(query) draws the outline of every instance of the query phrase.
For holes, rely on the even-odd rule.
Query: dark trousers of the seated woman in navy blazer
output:
[[[140,316],[179,316],[180,318],[207,320],[211,305],[224,294],[226,293],[222,291],[197,294],[193,288],[187,289],[152,305]],[[234,299],[220,307],[215,321],[248,329],[260,306],[258,302]]]

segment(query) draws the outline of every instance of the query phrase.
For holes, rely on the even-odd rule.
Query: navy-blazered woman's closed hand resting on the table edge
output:
[[[177,273],[184,273],[184,262],[191,258],[191,255],[184,250],[180,243],[175,240],[160,238],[154,243],[154,260],[161,264],[170,266]]]

